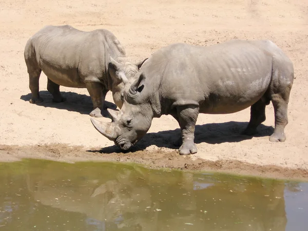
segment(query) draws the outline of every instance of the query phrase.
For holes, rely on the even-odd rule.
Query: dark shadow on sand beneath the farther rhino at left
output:
[[[75,111],[81,114],[89,114],[93,110],[93,104],[91,98],[88,95],[65,91],[61,91],[61,94],[64,98],[66,98],[66,101],[61,103],[54,103],[52,101],[52,95],[48,91],[40,91],[40,96],[44,99],[44,101],[36,105],[68,111]],[[20,99],[24,101],[29,101],[31,99],[31,93],[22,95]],[[108,108],[114,110],[117,109],[117,106],[111,102],[105,101],[105,105]]]

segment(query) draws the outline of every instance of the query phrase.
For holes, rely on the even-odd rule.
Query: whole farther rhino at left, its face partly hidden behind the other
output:
[[[117,38],[105,29],[86,32],[69,25],[45,26],[29,38],[24,55],[32,93],[30,103],[43,101],[38,93],[43,71],[54,102],[65,101],[60,86],[87,88],[93,103],[91,117],[108,116],[104,101],[109,90],[121,108],[124,85],[138,72]]]

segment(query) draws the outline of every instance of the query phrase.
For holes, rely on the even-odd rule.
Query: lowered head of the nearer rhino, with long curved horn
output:
[[[142,95],[144,80],[144,76],[141,75],[125,87],[124,104],[120,111],[107,109],[111,122],[90,118],[93,126],[122,150],[128,150],[136,144],[151,126],[153,110]]]

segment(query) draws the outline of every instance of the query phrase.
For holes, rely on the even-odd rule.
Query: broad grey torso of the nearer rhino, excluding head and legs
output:
[[[268,89],[272,58],[266,46],[249,41],[209,47],[173,44],[150,57],[146,72],[163,70],[159,92],[164,105],[196,104],[204,113],[233,113],[251,106]]]

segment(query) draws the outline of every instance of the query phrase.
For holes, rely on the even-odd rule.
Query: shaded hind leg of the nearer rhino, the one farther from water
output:
[[[255,104],[251,106],[251,118],[246,129],[242,132],[247,136],[253,136],[257,133],[257,127],[263,123],[266,119],[265,117],[265,107],[268,103],[263,99],[260,99]]]

